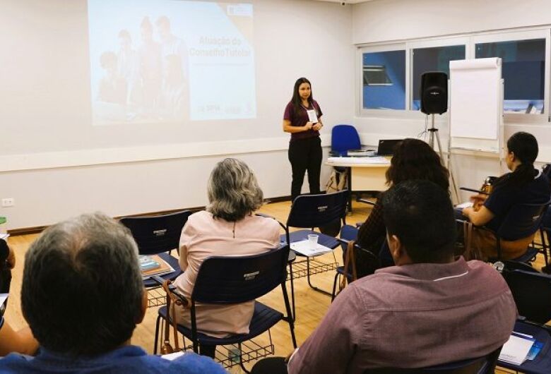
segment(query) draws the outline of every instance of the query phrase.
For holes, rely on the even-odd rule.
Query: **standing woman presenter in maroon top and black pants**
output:
[[[310,193],[319,193],[319,173],[321,170],[321,140],[319,130],[321,109],[312,97],[312,86],[306,78],[299,78],[292,91],[292,99],[283,114],[283,131],[291,133],[289,142],[289,162],[292,169],[291,201],[294,201],[302,188],[304,172],[308,171]]]

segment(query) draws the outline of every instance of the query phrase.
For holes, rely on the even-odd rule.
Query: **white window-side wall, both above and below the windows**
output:
[[[551,2],[547,0],[374,0],[352,6],[352,42],[356,45],[443,37],[461,33],[551,24]],[[548,56],[549,58],[549,56]],[[359,82],[359,80],[358,80]],[[356,86],[356,90],[359,88]],[[379,138],[403,138],[417,135],[425,127],[422,114],[404,114],[403,118],[362,118],[354,124],[367,144]],[[437,116],[440,137],[447,147],[447,118]],[[539,162],[551,162],[551,126],[506,121],[505,140],[516,131],[533,133],[540,144]],[[452,169],[459,186],[477,187],[485,176],[499,175],[499,160],[480,155],[452,157]],[[467,194],[463,195],[466,198]]]

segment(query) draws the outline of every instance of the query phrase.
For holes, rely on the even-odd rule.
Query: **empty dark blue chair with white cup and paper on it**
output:
[[[333,236],[321,234],[314,231],[316,227],[324,227],[336,220],[340,220],[342,224],[346,224],[346,202],[348,200],[348,190],[338,191],[336,193],[327,193],[320,195],[300,195],[291,205],[289,217],[287,223],[284,225],[285,234],[280,238],[280,241],[285,243],[294,243],[295,241],[302,241],[308,239],[309,234],[317,234],[319,236],[318,243],[322,246],[334,249],[337,248],[339,242]],[[302,230],[290,232],[291,227],[297,227]],[[296,253],[297,256],[302,256],[300,253]],[[304,256],[302,256],[304,257]],[[331,293],[324,291],[312,285],[310,281],[310,258],[306,258],[306,261],[300,261],[300,263],[306,263],[306,276],[308,284],[315,291],[319,291],[323,294],[331,296]],[[325,264],[323,271],[330,271],[336,269],[336,265]],[[291,300],[292,300],[292,315],[295,315],[295,287],[293,285],[293,272],[292,263],[289,263],[290,270],[290,282],[291,282]],[[322,271],[319,271],[322,272]]]

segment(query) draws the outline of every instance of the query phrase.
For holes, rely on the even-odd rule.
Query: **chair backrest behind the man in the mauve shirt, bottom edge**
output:
[[[444,363],[429,368],[368,369],[364,371],[364,374],[493,374],[501,350],[502,347],[499,347],[499,349],[480,358]]]

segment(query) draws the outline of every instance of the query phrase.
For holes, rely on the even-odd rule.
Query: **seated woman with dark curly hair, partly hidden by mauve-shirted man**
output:
[[[422,140],[408,138],[402,140],[394,148],[391,166],[386,171],[386,184],[391,186],[412,179],[432,181],[444,190],[449,190],[449,171],[442,165],[437,152],[434,152]],[[383,222],[383,206],[381,205],[381,198],[379,198],[371,214],[358,231],[357,244],[377,254],[385,239],[386,227]],[[382,265],[392,265],[392,263],[387,263],[385,259],[381,259],[381,263]],[[356,266],[359,277],[373,272],[374,267],[377,267],[376,264],[364,263],[362,258],[357,258]]]

